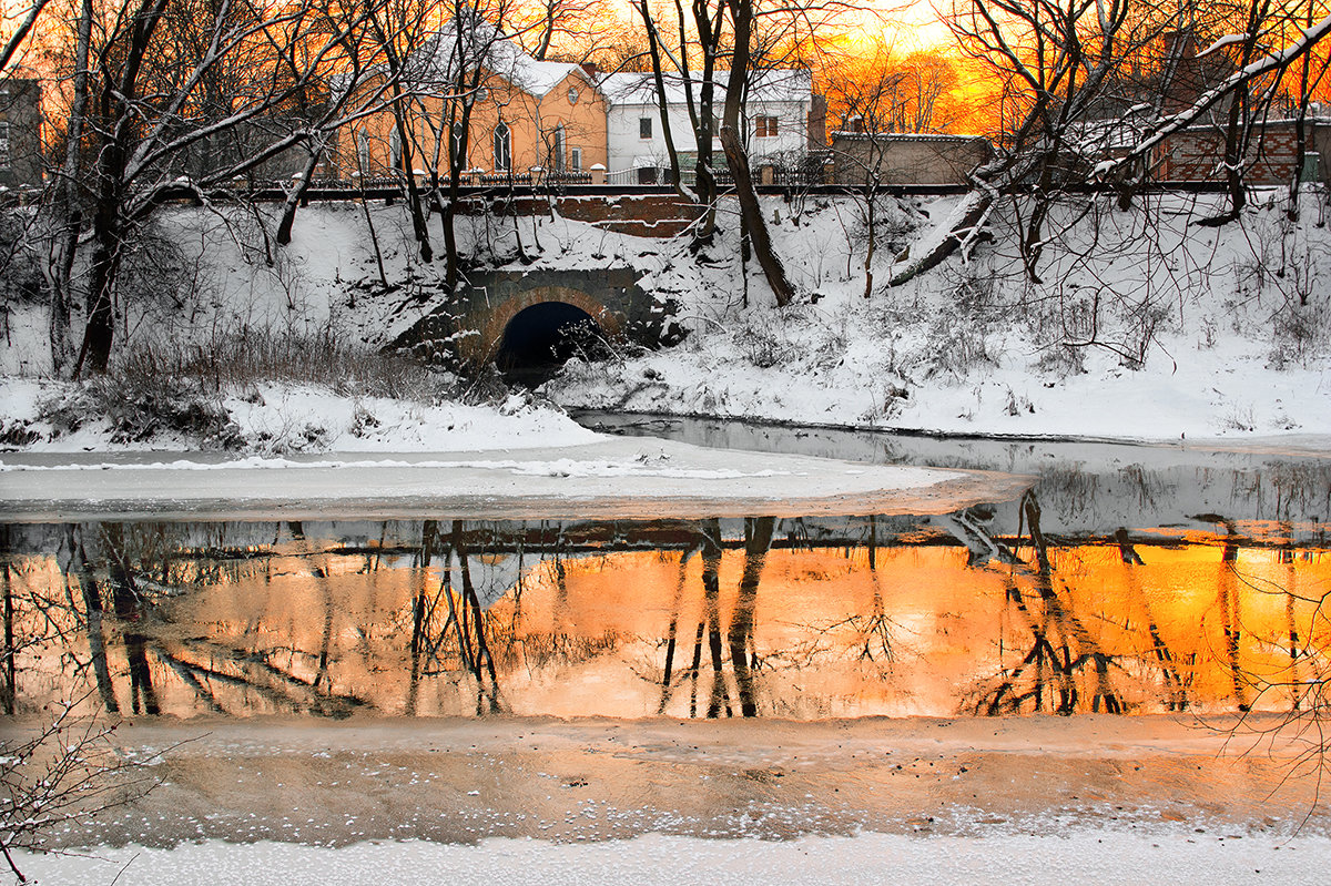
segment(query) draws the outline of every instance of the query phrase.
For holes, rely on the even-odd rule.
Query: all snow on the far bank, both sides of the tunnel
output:
[[[994,242],[969,262],[952,258],[894,289],[884,286],[894,257],[934,237],[957,198],[884,197],[869,298],[857,201],[764,200],[801,293],[787,309],[773,306],[756,265],[741,273],[728,202],[703,263],[685,238],[635,238],[548,216],[463,220],[462,242],[507,267],[528,266],[516,261],[519,237],[531,267],[634,267],[648,291],[677,306],[683,345],[571,365],[547,386],[564,406],[950,434],[1191,440],[1331,432],[1331,290],[1320,282],[1331,273],[1331,230],[1319,226],[1322,192],[1304,196],[1298,223],[1270,192],[1221,229],[1190,223],[1218,208],[1217,196],[1149,196],[1127,212],[1070,198],[1044,230],[1040,282],[1022,274],[1005,208],[993,217]],[[128,338],[208,347],[228,330],[262,327],[371,347],[391,341],[439,303],[442,266],[418,261],[401,205],[374,206],[371,216],[394,283],[386,294],[354,204],[301,210],[293,243],[272,265],[245,220],[164,210],[158,234],[174,243],[170,279],[192,290],[188,311],[164,285],[160,297],[129,303]],[[40,307],[15,306],[7,322],[0,370],[43,371]],[[499,424],[449,408],[362,403],[382,422],[370,430],[357,426],[355,403],[311,406],[318,396],[265,394],[285,408],[277,415],[234,398],[228,407],[256,434],[287,431],[297,443],[310,410],[335,414],[326,439],[294,447],[309,451],[459,450],[473,446],[466,427],[479,443]],[[5,412],[12,403],[7,394]],[[543,418],[518,432],[552,443],[555,424]],[[458,442],[438,442],[450,426]],[[89,444],[104,446],[81,446]]]

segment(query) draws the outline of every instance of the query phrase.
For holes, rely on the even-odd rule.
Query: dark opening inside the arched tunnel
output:
[[[554,378],[571,357],[606,357],[604,333],[580,307],[540,302],[508,321],[495,365],[510,383],[536,387]]]

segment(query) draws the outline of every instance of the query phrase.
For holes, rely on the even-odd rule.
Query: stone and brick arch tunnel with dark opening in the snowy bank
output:
[[[397,337],[393,347],[473,369],[495,363],[516,380],[540,380],[566,359],[607,343],[647,347],[675,337],[673,299],[639,286],[639,271],[484,271]]]

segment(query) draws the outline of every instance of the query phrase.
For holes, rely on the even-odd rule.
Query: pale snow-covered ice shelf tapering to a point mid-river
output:
[[[0,510],[13,517],[295,512],[495,517],[933,514],[1013,498],[1025,478],[868,466],[800,455],[598,438],[510,458],[108,462],[8,455]]]

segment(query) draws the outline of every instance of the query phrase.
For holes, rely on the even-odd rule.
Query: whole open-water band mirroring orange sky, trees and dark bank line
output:
[[[346,717],[1291,709],[1318,528],[946,517],[5,525],[7,710]]]

